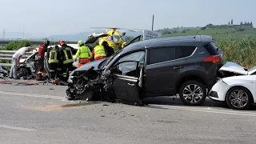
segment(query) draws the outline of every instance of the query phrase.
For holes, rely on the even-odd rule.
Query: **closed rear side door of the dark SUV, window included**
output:
[[[146,50],[146,97],[176,94],[175,84],[186,74],[186,60],[175,58],[175,46]]]

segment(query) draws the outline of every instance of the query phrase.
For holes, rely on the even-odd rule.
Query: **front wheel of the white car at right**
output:
[[[234,110],[246,110],[252,101],[250,91],[241,86],[231,88],[226,94],[226,104]]]

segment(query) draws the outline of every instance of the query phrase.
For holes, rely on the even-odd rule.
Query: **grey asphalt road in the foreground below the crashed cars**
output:
[[[222,102],[148,106],[66,100],[66,86],[0,85],[0,143],[255,143],[256,111]]]

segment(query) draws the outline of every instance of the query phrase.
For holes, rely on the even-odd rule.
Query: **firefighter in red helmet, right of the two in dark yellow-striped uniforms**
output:
[[[65,41],[61,41],[60,46],[62,46],[59,51],[62,57],[62,71],[63,71],[63,81],[67,81],[68,76],[73,70],[73,54],[75,52],[74,48],[67,46]]]

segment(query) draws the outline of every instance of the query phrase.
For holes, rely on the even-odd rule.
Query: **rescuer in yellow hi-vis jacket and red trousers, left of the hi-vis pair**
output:
[[[90,49],[88,46],[86,46],[82,40],[78,41],[78,47],[79,50],[77,51],[77,54],[75,54],[74,62],[77,61],[77,58],[79,58],[78,67],[90,62]]]

